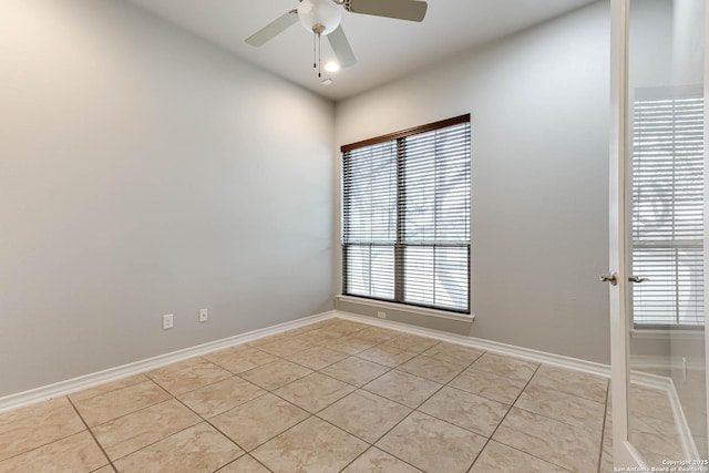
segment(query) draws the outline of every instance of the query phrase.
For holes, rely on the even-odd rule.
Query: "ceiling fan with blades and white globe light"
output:
[[[292,24],[300,21],[318,39],[327,35],[332,52],[342,68],[357,63],[340,21],[342,9],[350,13],[371,14],[398,20],[423,21],[428,4],[420,0],[299,0],[290,10],[246,39],[248,44],[261,47]],[[316,64],[314,63],[314,66]]]

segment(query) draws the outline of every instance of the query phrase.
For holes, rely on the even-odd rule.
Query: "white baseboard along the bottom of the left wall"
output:
[[[171,353],[160,354],[157,357],[148,358],[141,361],[135,361],[133,363],[123,364],[115,368],[110,368],[107,370],[99,371],[91,374],[85,374],[85,376],[73,378],[66,381],[60,381],[53,384],[35,388],[29,391],[19,392],[17,394],[6,395],[3,398],[0,398],[0,412],[9,411],[11,409],[21,408],[24,405],[33,404],[35,402],[47,401],[49,399],[71,394],[72,392],[81,391],[88,388],[93,388],[94,385],[97,385],[97,384],[115,381],[121,378],[142,373],[144,371],[154,370],[165,364],[171,364],[177,361],[186,360],[187,358],[206,354],[212,351],[233,347],[235,345],[246,343],[248,341],[254,341],[259,338],[269,337],[271,335],[280,333],[287,330],[292,330],[299,327],[308,326],[310,323],[315,323],[320,320],[327,320],[332,317],[335,317],[333,310],[323,312],[323,313],[318,313],[316,316],[304,317],[301,319],[278,323],[276,326],[253,330],[246,333],[224,338],[220,340],[210,341],[207,343],[198,345],[196,347],[185,348],[183,350],[173,351]]]

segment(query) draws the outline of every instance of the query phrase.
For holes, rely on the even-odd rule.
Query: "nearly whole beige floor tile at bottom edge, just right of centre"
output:
[[[413,412],[377,446],[427,472],[463,473],[485,438],[421,412]]]

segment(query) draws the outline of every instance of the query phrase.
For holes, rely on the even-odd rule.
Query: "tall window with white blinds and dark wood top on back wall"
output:
[[[342,294],[470,313],[470,115],[342,146]]]

